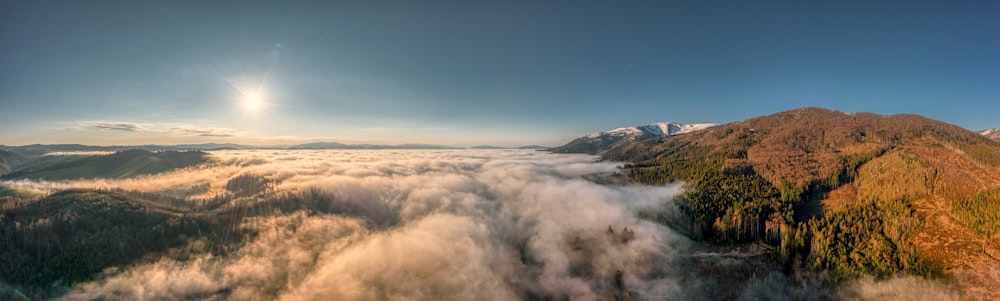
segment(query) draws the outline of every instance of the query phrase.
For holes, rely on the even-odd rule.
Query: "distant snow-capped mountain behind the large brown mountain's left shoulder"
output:
[[[707,129],[714,123],[684,124],[676,122],[659,122],[643,126],[617,128],[610,131],[592,133],[573,139],[569,143],[549,149],[555,153],[585,153],[604,154],[605,152],[626,144],[650,138],[678,135]]]

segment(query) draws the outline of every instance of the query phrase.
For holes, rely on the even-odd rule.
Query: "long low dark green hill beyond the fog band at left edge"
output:
[[[59,159],[58,157],[54,157]],[[80,178],[130,178],[156,174],[208,162],[200,151],[150,152],[133,149],[31,166],[4,175],[3,179],[71,180]]]

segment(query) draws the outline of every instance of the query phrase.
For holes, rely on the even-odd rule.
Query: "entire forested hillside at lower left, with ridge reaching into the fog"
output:
[[[296,211],[372,214],[367,204],[318,190],[275,193],[273,184],[242,174],[226,184],[232,193],[202,201],[121,189],[25,197],[0,186],[0,283],[34,297],[58,297],[76,283],[132,264],[229,254],[256,235],[258,229],[241,226],[254,217]],[[395,221],[379,222],[386,224],[372,225]],[[0,291],[0,299],[9,296],[5,293],[11,292]]]

